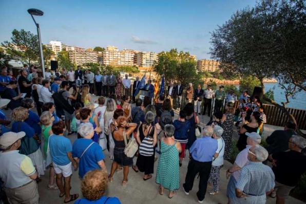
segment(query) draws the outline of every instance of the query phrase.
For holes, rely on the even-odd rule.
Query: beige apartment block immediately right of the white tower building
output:
[[[67,46],[67,51],[69,52],[69,58],[72,63],[76,65],[83,65],[85,63],[98,63],[99,60],[102,61],[102,53],[96,51],[89,51],[81,47]]]

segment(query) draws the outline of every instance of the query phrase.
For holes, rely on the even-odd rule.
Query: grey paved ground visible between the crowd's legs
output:
[[[96,99],[97,97],[93,97]],[[10,118],[10,111],[5,110],[7,116]],[[201,121],[206,124],[209,120],[207,116],[200,116]],[[177,118],[177,113],[175,118]],[[265,126],[265,136],[270,135],[275,129],[282,129],[283,127],[276,127],[272,125]],[[238,134],[235,132],[234,138],[237,138]],[[76,139],[76,135],[73,134],[68,136],[71,140],[71,143]],[[106,157],[105,162],[107,166],[107,171],[110,172],[111,160],[108,158],[108,151],[104,151],[104,155]],[[157,156],[159,156],[157,154]],[[196,192],[198,191],[199,179],[195,179],[194,188],[190,191],[189,195],[185,195],[182,190],[182,184],[184,183],[185,176],[187,173],[187,165],[188,165],[188,153],[186,154],[186,158],[183,160],[183,165],[180,168],[180,189],[177,191],[177,195],[175,195],[172,199],[167,197],[168,191],[165,190],[165,194],[163,196],[159,195],[158,184],[155,182],[156,174],[147,181],[144,181],[143,173],[136,173],[130,168],[130,172],[128,175],[128,184],[126,187],[121,186],[121,182],[123,179],[123,172],[115,173],[113,177],[113,182],[108,183],[108,188],[106,195],[107,196],[116,196],[118,197],[122,203],[124,204],[135,204],[135,203],[197,203]],[[136,163],[136,159],[134,159],[134,163]],[[155,162],[155,172],[157,168],[158,160]],[[226,198],[226,187],[228,180],[225,177],[226,170],[231,167],[231,163],[224,161],[224,166],[220,171],[220,193],[215,196],[211,196],[208,194],[208,191],[212,189],[212,187],[207,187],[206,196],[203,203],[227,203]],[[46,171],[45,176],[42,176],[42,182],[39,183],[39,194],[40,194],[40,203],[41,204],[54,204],[54,203],[63,203],[64,199],[59,197],[59,191],[48,190],[47,184],[49,178],[49,171]],[[81,180],[79,179],[78,172],[73,172],[71,179],[71,193],[79,193],[80,197],[82,197],[81,193]],[[72,202],[71,202],[72,203]],[[266,203],[275,203],[275,198],[267,197]],[[304,203],[300,200],[297,200],[293,197],[289,197],[286,203]]]

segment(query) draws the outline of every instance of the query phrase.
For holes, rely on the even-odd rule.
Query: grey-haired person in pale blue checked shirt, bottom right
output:
[[[247,158],[250,163],[242,168],[236,184],[234,203],[264,204],[266,202],[266,195],[269,195],[275,186],[272,169],[262,163],[268,155],[264,147],[259,144],[248,150]]]

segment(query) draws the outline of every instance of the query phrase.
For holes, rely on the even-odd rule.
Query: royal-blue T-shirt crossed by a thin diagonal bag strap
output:
[[[80,158],[84,150],[92,143],[91,139],[81,138],[75,140],[72,146],[72,157]],[[94,142],[85,152],[79,162],[79,176],[83,176],[91,170],[101,169],[98,162],[104,159],[101,146]]]

